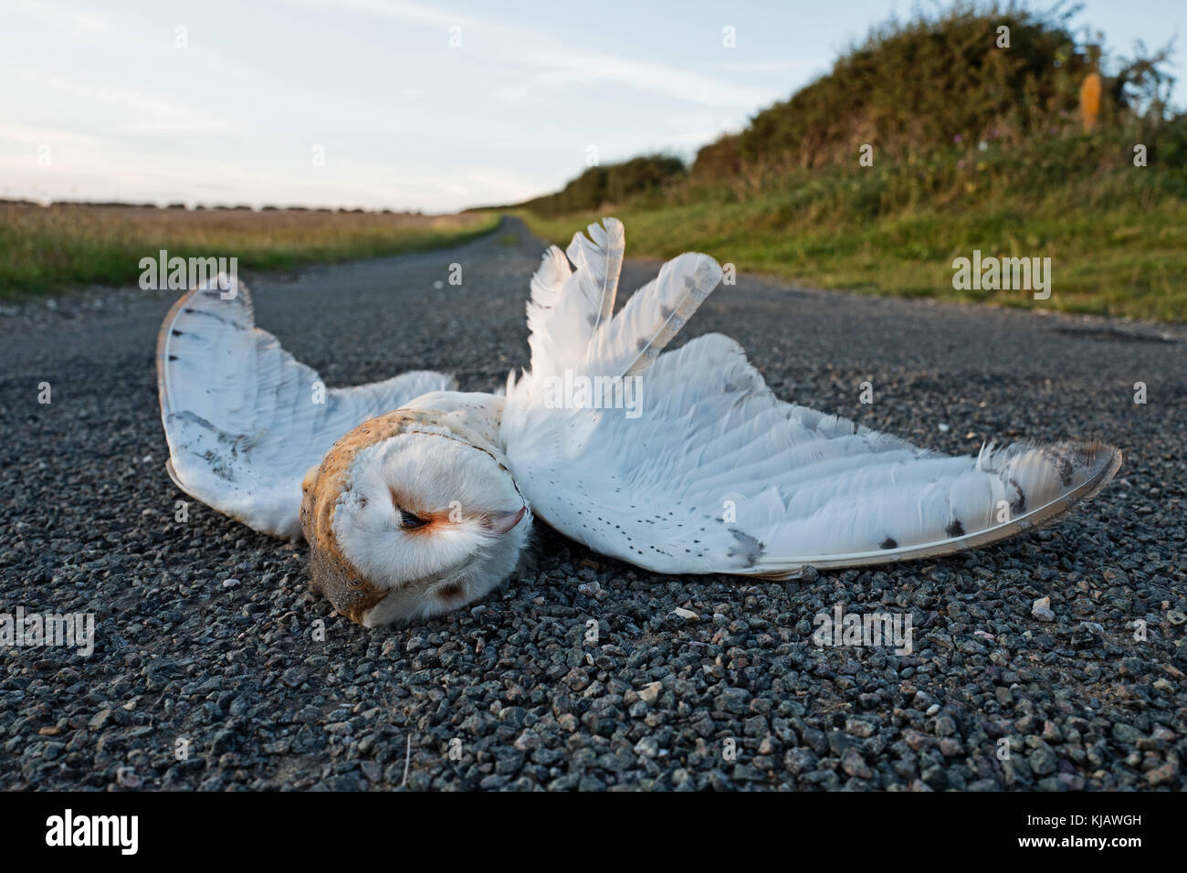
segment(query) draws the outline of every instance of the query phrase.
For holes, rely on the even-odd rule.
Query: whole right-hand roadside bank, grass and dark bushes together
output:
[[[1170,46],[1115,56],[1075,14],[973,0],[891,19],[687,172],[643,156],[520,214],[557,242],[612,214],[631,254],[818,287],[1187,321]],[[954,289],[975,251],[1050,258],[1050,298]]]

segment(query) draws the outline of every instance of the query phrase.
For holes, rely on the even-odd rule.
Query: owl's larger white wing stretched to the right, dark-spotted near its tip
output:
[[[659,572],[772,577],[944,555],[1059,515],[1121,464],[1094,442],[929,451],[780,400],[721,335],[659,354],[715,268],[706,255],[669,261],[598,328],[580,368],[538,361],[538,342],[532,372],[509,382],[502,426],[521,491],[598,552]],[[615,377],[621,409],[605,403]]]

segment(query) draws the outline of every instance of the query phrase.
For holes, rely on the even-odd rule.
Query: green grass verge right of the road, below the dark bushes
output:
[[[954,162],[951,162],[954,164]],[[560,217],[519,213],[564,246],[603,215],[631,255],[706,252],[740,271],[870,295],[1187,320],[1187,200],[1151,167],[1043,185],[992,159],[934,184],[922,170],[805,172],[747,192],[692,190]],[[997,172],[1003,171],[1003,172]],[[942,173],[941,173],[942,175]],[[923,181],[921,181],[921,178]],[[1052,295],[957,291],[958,257],[1049,257]]]

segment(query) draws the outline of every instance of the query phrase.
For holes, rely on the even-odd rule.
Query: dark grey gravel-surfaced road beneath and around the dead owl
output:
[[[427,367],[493,390],[527,362],[541,249],[509,221],[455,249],[246,278],[259,323],[331,386]],[[654,268],[629,261],[623,287]],[[791,583],[658,576],[541,527],[480,605],[367,631],[306,593],[303,548],[193,501],[178,520],[153,371],[173,297],[0,316],[0,612],[95,615],[89,657],[0,645],[0,786],[1185,786],[1182,328],[740,277],[687,336],[736,337],[781,397],[951,453],[1100,437],[1121,473],[1003,545]],[[838,603],[909,615],[912,653],[818,646]]]

